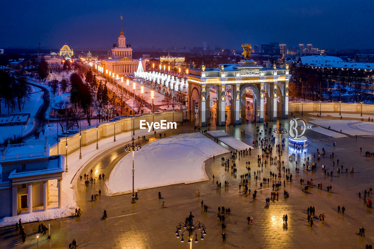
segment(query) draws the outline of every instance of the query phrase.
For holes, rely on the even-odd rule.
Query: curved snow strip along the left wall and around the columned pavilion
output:
[[[137,136],[149,135],[147,131],[135,131]],[[201,134],[200,134],[201,135]],[[202,135],[203,136],[203,135]],[[103,151],[118,146],[118,143],[129,141],[132,138],[132,131],[123,132],[116,134],[117,142],[113,142],[113,136],[99,140],[99,149],[96,150],[96,143],[92,143],[88,146],[82,147],[82,159],[79,159],[79,150],[74,151],[68,155],[68,169],[69,172],[64,172],[62,174],[62,208],[58,207],[58,188],[57,180],[48,181],[49,183],[49,202],[48,210],[43,211],[43,206],[39,206],[33,209],[33,213],[21,213],[13,217],[4,217],[0,219],[0,227],[5,227],[9,225],[14,225],[20,218],[22,222],[32,222],[32,221],[45,221],[49,219],[63,218],[67,216],[74,215],[76,204],[76,190],[73,190],[73,185],[71,182],[75,175],[79,176],[82,169],[98,154]],[[166,138],[163,138],[166,139]],[[163,140],[160,139],[160,140]],[[207,138],[206,138],[207,139]],[[210,139],[208,139],[210,140]],[[50,140],[49,140],[50,141]],[[214,143],[214,142],[213,142]],[[150,143],[150,144],[153,144]],[[192,147],[193,145],[191,145]],[[217,145],[219,146],[219,145]],[[220,147],[220,146],[219,146]],[[221,150],[224,148],[220,147]],[[201,149],[202,150],[202,149]],[[224,150],[224,152],[227,152]],[[222,152],[222,153],[224,153]],[[152,159],[153,160],[153,159]],[[131,169],[130,169],[131,172]],[[136,171],[135,171],[136,172]],[[76,178],[77,179],[77,178]],[[105,190],[102,190],[105,191]],[[83,213],[84,215],[84,213]]]

